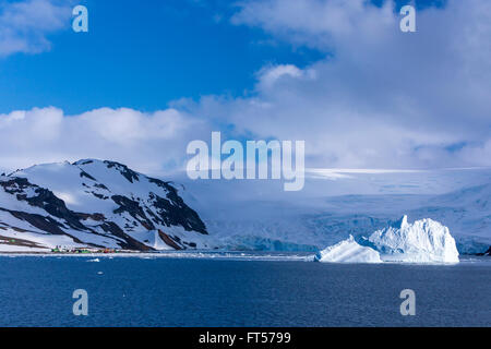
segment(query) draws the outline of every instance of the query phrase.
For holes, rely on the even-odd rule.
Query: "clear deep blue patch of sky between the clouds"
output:
[[[231,25],[229,1],[80,1],[89,32],[71,21],[48,35],[51,49],[0,59],[0,112],[57,106],[67,113],[99,107],[152,111],[170,100],[247,94],[266,64],[299,67],[320,53]]]

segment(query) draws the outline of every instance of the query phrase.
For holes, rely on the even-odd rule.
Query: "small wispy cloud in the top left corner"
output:
[[[70,3],[25,0],[0,4],[0,57],[48,50],[51,43],[47,36],[70,25]]]

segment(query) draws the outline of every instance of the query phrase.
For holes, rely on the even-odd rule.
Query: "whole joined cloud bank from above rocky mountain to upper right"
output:
[[[235,25],[324,58],[264,67],[248,96],[182,99],[153,113],[3,115],[2,165],[97,157],[147,172],[181,169],[188,142],[221,130],[224,140],[303,140],[309,168],[491,166],[491,2],[418,11],[417,33],[399,31],[397,10],[393,1],[244,1]]]

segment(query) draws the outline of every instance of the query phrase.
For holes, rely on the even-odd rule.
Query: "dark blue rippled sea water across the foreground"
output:
[[[454,266],[91,258],[0,256],[0,326],[491,325],[489,258]],[[407,288],[416,316],[399,313]],[[75,289],[88,292],[88,316],[72,313]]]

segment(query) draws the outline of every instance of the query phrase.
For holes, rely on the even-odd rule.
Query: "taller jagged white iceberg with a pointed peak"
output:
[[[383,261],[458,263],[448,228],[430,218],[409,224],[405,215],[390,227],[373,232],[368,243],[379,251]]]

